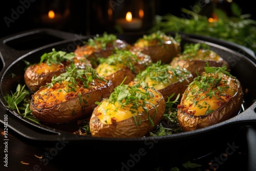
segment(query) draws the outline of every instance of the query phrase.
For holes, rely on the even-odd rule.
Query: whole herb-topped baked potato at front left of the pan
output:
[[[32,95],[30,110],[42,123],[70,122],[91,117],[95,102],[109,97],[113,91],[111,80],[99,77],[93,68],[84,70],[71,65],[67,72]]]

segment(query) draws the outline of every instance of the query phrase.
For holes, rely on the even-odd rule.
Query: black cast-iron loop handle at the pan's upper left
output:
[[[3,68],[0,69],[5,69],[15,59],[32,50],[54,42],[77,38],[77,36],[74,33],[41,28],[3,37],[0,39],[0,57]]]

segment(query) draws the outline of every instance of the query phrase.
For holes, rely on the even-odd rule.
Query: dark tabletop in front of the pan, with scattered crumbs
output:
[[[74,162],[76,160],[71,160],[68,162],[69,158],[83,156],[90,156],[90,154],[79,154],[79,152],[74,152],[72,154],[61,154],[58,153],[62,148],[61,145],[52,146],[49,144],[44,145],[44,143],[34,143],[34,141],[28,140],[23,136],[17,135],[12,130],[8,130],[8,140],[5,139],[4,125],[0,124],[0,132],[2,136],[0,138],[0,170],[24,170],[24,171],[42,171],[42,170],[71,170],[71,168],[84,167],[84,170],[94,170],[90,163],[87,163],[84,160],[84,163],[81,163],[82,160],[79,160],[78,163]],[[247,170],[247,145],[246,145],[246,128],[243,129],[237,137],[235,137],[230,142],[227,142],[223,145],[223,148],[219,149],[212,154],[202,157],[200,159],[191,161],[197,164],[200,164],[200,167],[186,169],[182,165],[178,165],[180,170],[214,170],[210,167],[210,163],[218,167],[217,170]],[[235,146],[232,150],[229,150],[228,155],[227,148],[230,149],[229,145]],[[65,142],[63,144],[65,146]],[[58,149],[56,149],[58,148]],[[86,147],[88,148],[88,147]],[[8,159],[5,157],[8,155]],[[59,158],[58,155],[66,155],[65,158]],[[63,160],[65,159],[65,160]],[[100,165],[99,159],[99,165]],[[7,162],[6,162],[7,161]],[[149,163],[150,164],[150,163]],[[6,167],[8,165],[8,167]],[[106,170],[108,166],[106,166]],[[78,169],[78,168],[76,168]],[[73,169],[72,169],[73,170]],[[125,169],[123,169],[125,170]],[[132,169],[129,169],[132,170]],[[135,169],[141,170],[141,169]],[[146,169],[148,170],[148,168]],[[152,168],[152,170],[157,170]],[[165,170],[165,169],[159,169]],[[166,169],[170,170],[170,169]]]

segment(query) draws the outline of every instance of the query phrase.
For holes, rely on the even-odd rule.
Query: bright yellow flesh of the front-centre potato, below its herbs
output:
[[[143,89],[141,90],[144,91]],[[154,100],[150,99],[148,100],[148,102],[155,105],[162,98],[162,96],[159,96],[156,92],[153,91],[152,93],[155,96]],[[146,104],[148,109],[153,108],[151,104]],[[141,106],[139,106],[137,111],[131,109],[131,106],[132,104],[129,104],[121,108],[121,105],[118,102],[115,102],[115,104],[113,104],[108,101],[102,101],[102,103],[99,105],[97,109],[97,113],[100,114],[98,115],[98,118],[100,122],[103,124],[113,124],[112,119],[114,119],[115,122],[120,122],[122,120],[129,119],[133,116],[137,116],[144,111]]]

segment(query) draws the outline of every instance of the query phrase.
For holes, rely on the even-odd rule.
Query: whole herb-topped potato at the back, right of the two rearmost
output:
[[[181,47],[178,35],[174,38],[164,32],[156,31],[143,35],[130,47],[130,50],[150,55],[154,63],[161,60],[162,63],[167,64],[180,53]]]

